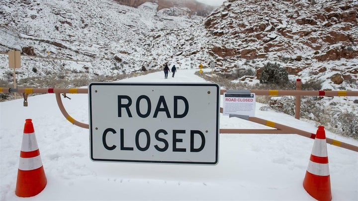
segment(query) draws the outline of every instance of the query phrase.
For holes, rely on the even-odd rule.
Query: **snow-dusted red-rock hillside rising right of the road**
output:
[[[198,26],[160,37],[154,47],[180,54],[172,59],[179,64],[192,58],[225,72],[251,67],[259,75],[275,62],[304,79],[325,81],[335,72],[357,83],[357,9],[357,0],[228,0]]]

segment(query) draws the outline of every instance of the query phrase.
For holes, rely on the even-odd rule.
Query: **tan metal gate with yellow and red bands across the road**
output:
[[[223,95],[227,90],[221,89],[220,94]],[[24,100],[27,101],[28,94],[35,93],[54,93],[56,95],[56,101],[60,108],[61,113],[65,118],[72,124],[89,129],[89,125],[81,123],[72,118],[66,111],[62,100],[61,94],[65,98],[68,98],[66,94],[87,94],[87,88],[4,88],[0,87],[0,93],[22,93]],[[358,91],[304,91],[304,90],[250,90],[250,93],[255,93],[256,95],[263,96],[358,96]],[[223,108],[220,108],[220,112],[223,112]],[[235,115],[230,115],[230,117],[237,117]],[[315,139],[316,134],[305,132],[299,129],[288,127],[282,124],[277,124],[268,120],[260,119],[257,117],[240,117],[241,119],[258,123],[264,126],[268,126],[275,129],[220,129],[220,134],[298,134],[305,136],[311,139]],[[352,151],[358,152],[358,146],[348,144],[342,141],[331,139],[326,137],[326,141],[329,144],[346,148]]]

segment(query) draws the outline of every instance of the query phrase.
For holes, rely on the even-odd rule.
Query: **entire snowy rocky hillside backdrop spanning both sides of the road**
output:
[[[18,78],[113,75],[167,62],[181,68],[214,62],[217,71],[253,68],[259,75],[276,62],[300,78],[328,80],[325,89],[357,88],[358,0],[226,0],[206,18],[170,16],[171,8],[157,11],[150,2],[133,8],[112,0],[2,0],[0,6],[1,61],[9,50],[37,56],[22,57]],[[11,80],[6,62],[0,78]]]

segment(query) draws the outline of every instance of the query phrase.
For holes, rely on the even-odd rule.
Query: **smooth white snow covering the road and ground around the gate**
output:
[[[132,77],[124,82],[206,82],[195,69]],[[65,108],[79,122],[89,122],[87,94],[68,94]],[[215,166],[93,162],[89,130],[72,125],[61,114],[54,94],[0,103],[0,200],[275,200],[314,201],[303,188],[314,140],[296,134],[220,134]],[[274,111],[256,117],[316,133],[313,123]],[[32,119],[47,186],[37,196],[15,195],[25,119]],[[220,115],[220,128],[268,129]],[[352,138],[326,131],[326,136],[358,145]],[[327,144],[332,198],[358,200],[358,153]]]

